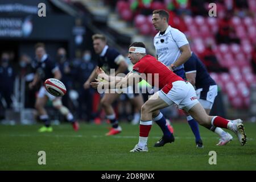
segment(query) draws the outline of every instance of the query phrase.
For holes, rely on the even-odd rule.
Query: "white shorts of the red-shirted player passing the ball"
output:
[[[190,110],[199,101],[196,91],[191,83],[186,81],[175,81],[159,90],[158,95],[168,105],[176,104],[179,109]]]

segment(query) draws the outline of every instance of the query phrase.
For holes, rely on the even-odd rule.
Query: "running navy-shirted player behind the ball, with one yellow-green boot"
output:
[[[34,80],[30,83],[30,88],[33,88],[39,81],[41,84],[38,96],[36,98],[35,108],[38,110],[39,118],[44,122],[43,127],[41,127],[39,132],[51,132],[53,131],[49,117],[44,106],[46,105],[47,100],[52,101],[53,107],[60,111],[65,118],[72,123],[73,129],[75,131],[79,130],[79,123],[75,121],[73,114],[68,110],[67,107],[63,106],[61,102],[61,97],[52,96],[44,88],[44,81],[48,78],[61,79],[61,72],[56,63],[54,63],[46,53],[46,49],[43,43],[38,43],[35,45],[35,55],[36,61],[34,63],[34,68],[36,70]]]

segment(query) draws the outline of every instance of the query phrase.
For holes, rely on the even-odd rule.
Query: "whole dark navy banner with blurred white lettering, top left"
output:
[[[42,11],[46,16],[39,16]],[[72,37],[75,20],[61,11],[52,10],[49,1],[0,1],[1,39],[67,40]]]

